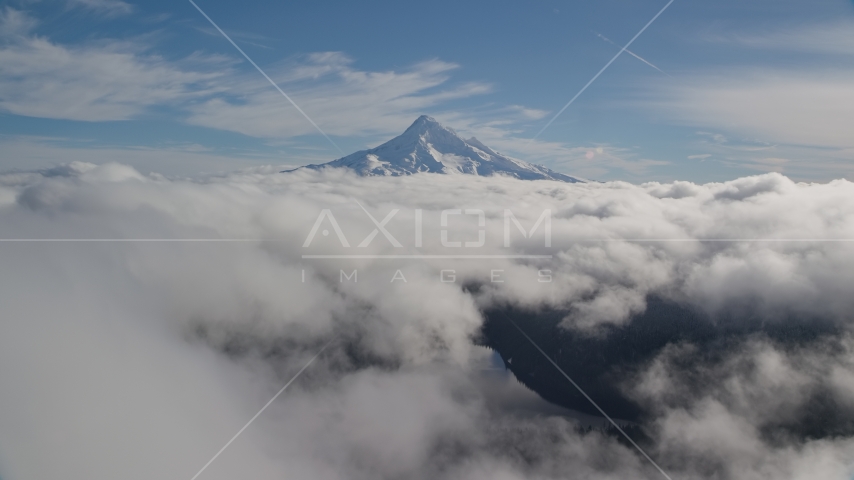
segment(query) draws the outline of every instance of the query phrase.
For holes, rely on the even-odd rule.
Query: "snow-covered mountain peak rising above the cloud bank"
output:
[[[403,134],[379,147],[356,152],[321,165],[301,168],[346,167],[363,176],[401,176],[422,172],[467,175],[507,175],[522,180],[581,182],[541,165],[497,153],[476,138],[463,140],[450,128],[422,115]],[[292,171],[292,170],[290,170]]]

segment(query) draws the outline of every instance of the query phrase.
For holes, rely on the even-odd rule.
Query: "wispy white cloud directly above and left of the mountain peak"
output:
[[[441,60],[385,72],[358,70],[353,63],[341,53],[317,53],[269,71],[325,131],[343,136],[398,134],[420,112],[492,90],[481,82],[448,85],[458,66]],[[311,125],[273,102],[274,95],[254,78],[235,78],[229,92],[233,96],[191,107],[187,121],[256,137],[312,133]]]

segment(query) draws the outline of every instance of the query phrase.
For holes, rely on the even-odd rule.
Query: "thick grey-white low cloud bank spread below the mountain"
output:
[[[487,308],[565,310],[563,328],[596,336],[655,296],[718,322],[837,328],[797,348],[744,338],[722,358],[673,344],[638,365],[625,388],[655,412],[646,447],[674,478],[850,478],[849,436],[774,426],[802,418],[804,395],[854,402],[852,199],[844,180],[776,174],[0,175],[2,238],[233,240],[0,245],[0,475],[190,478],[336,338],[200,478],[656,478],[571,417],[496,401],[524,392],[485,381],[473,344]],[[401,258],[415,254],[433,257]]]

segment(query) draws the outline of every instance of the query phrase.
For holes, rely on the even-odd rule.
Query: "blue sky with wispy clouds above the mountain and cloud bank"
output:
[[[854,176],[850,0],[676,0],[536,140],[666,1],[197,3],[346,153],[426,113],[601,180]],[[341,156],[189,2],[0,8],[0,170]]]

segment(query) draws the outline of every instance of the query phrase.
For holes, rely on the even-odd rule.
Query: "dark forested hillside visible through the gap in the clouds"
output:
[[[544,399],[566,408],[599,415],[590,404],[551,365],[510,322],[531,337],[608,415],[642,422],[650,407],[631,398],[625,388],[668,345],[690,345],[692,354],[681,365],[687,382],[708,378],[695,374],[710,365],[720,364],[745,344],[763,339],[780,348],[797,348],[838,334],[830,322],[815,319],[762,320],[741,309],[717,318],[677,303],[650,298],[648,308],[622,326],[610,326],[596,334],[561,327],[566,311],[530,312],[512,308],[485,312],[486,321],[480,339],[495,349],[513,374]],[[698,390],[702,389],[697,385]],[[789,425],[810,436],[823,436],[840,428],[854,429],[851,421],[815,425],[816,409],[825,413],[826,398],[810,401],[803,422]],[[826,417],[826,415],[822,415]],[[843,414],[847,418],[847,414]],[[840,412],[832,418],[840,419]],[[844,425],[843,425],[844,424]],[[847,425],[847,426],[846,426]]]

